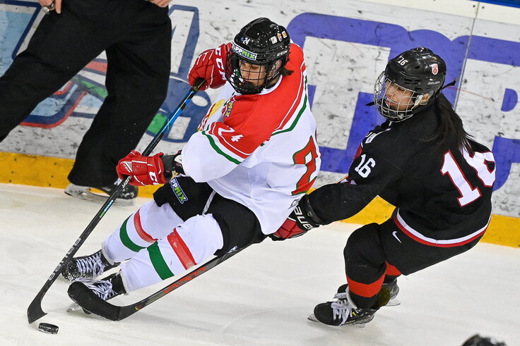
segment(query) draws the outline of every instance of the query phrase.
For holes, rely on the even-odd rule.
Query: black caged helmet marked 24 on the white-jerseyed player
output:
[[[289,55],[290,37],[285,27],[268,18],[258,18],[242,27],[228,53],[225,78],[241,94],[258,94],[271,87]],[[246,66],[266,73],[249,74]],[[248,75],[245,75],[245,74]],[[255,77],[256,76],[256,77]]]

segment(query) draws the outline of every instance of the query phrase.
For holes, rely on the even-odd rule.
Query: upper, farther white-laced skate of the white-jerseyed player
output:
[[[74,257],[61,271],[61,275],[69,282],[77,278],[97,278],[117,266],[119,263],[110,264],[100,250],[89,256]]]

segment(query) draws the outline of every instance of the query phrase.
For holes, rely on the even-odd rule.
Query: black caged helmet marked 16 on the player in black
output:
[[[410,49],[386,64],[374,87],[374,104],[390,121],[403,121],[430,104],[441,91],[445,79],[446,63],[440,56],[425,47]],[[393,97],[390,101],[389,87],[394,92],[396,85],[406,97],[398,100]],[[406,101],[406,107],[404,104],[400,107],[401,100]]]

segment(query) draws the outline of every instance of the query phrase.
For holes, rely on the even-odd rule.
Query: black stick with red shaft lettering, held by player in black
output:
[[[245,247],[242,249],[233,248],[223,255],[210,259],[202,266],[199,266],[184,275],[182,278],[179,278],[170,285],[167,285],[165,288],[162,288],[161,290],[153,293],[153,295],[149,295],[148,297],[141,299],[134,304],[125,305],[123,307],[110,304],[98,296],[93,295],[89,288],[77,281],[70,285],[68,290],[69,297],[71,297],[71,299],[78,303],[83,309],[93,314],[101,316],[104,319],[108,319],[110,321],[121,321],[122,319],[126,319],[126,317],[131,316],[137,311],[143,309],[143,307],[147,307],[148,305],[152,304],[159,298],[164,297],[173,290],[177,290],[177,288],[181,287],[185,283],[188,283],[194,278],[201,276],[211,268],[215,268],[215,266],[218,266],[226,259],[235,256],[235,254],[241,252],[243,249],[245,249]]]

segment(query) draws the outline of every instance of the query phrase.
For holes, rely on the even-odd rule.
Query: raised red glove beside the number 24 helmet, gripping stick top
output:
[[[203,51],[189,71],[189,85],[193,87],[196,80],[204,78],[206,82],[201,86],[201,90],[222,87],[225,84],[225,60],[230,49],[231,44],[225,43],[215,49]]]

